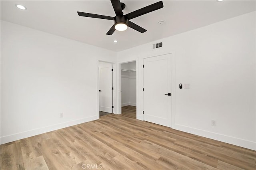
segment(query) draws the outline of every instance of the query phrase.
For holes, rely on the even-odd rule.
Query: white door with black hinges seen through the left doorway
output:
[[[100,111],[112,113],[112,64],[99,66]]]

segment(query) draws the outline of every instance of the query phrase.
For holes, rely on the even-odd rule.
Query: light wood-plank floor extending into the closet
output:
[[[122,115],[1,145],[7,169],[256,169],[256,152]]]

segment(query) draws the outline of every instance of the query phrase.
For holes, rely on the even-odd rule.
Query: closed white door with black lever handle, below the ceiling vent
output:
[[[145,58],[143,63],[143,119],[171,127],[172,55]]]

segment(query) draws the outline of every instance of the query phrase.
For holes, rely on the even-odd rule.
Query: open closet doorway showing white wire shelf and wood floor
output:
[[[136,61],[121,64],[122,114],[136,119]]]

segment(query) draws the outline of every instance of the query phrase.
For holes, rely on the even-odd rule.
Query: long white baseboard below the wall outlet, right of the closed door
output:
[[[232,136],[227,136],[224,134],[218,134],[218,133],[214,133],[214,132],[210,132],[210,131],[206,131],[206,130],[201,130],[201,129],[187,127],[187,126],[183,126],[183,125],[177,125],[177,124],[175,124],[172,128],[174,128],[176,130],[183,131],[183,132],[196,134],[198,136],[211,138],[211,139],[218,140],[221,142],[234,144],[236,146],[241,146],[244,148],[256,150],[256,142],[253,142],[253,141],[248,141],[248,140],[244,140],[244,139],[240,139],[240,138],[235,138]]]

